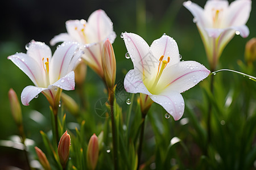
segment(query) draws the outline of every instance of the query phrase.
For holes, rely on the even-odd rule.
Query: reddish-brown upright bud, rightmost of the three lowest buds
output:
[[[86,162],[89,169],[94,170],[98,161],[98,137],[93,134],[87,147]]]

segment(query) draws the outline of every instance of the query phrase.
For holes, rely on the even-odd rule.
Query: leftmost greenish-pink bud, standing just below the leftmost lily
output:
[[[21,125],[22,111],[20,108],[18,97],[15,91],[13,90],[13,88],[9,90],[8,95],[10,100],[11,113],[13,114],[14,121],[16,122],[17,125]]]

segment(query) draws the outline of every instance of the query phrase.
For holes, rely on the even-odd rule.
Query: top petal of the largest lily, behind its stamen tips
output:
[[[163,60],[167,61],[167,57],[170,57],[170,63],[167,67],[175,65],[180,62],[179,49],[177,43],[172,37],[163,35],[160,39],[157,39],[152,42],[150,46],[152,54],[158,58],[164,56]],[[157,65],[158,66],[158,65]]]

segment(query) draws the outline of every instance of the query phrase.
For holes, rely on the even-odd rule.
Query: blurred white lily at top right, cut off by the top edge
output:
[[[204,9],[187,1],[183,5],[193,14],[207,52],[210,68],[216,68],[218,58],[235,34],[247,37],[249,29],[245,25],[250,16],[251,0],[209,0]]]

